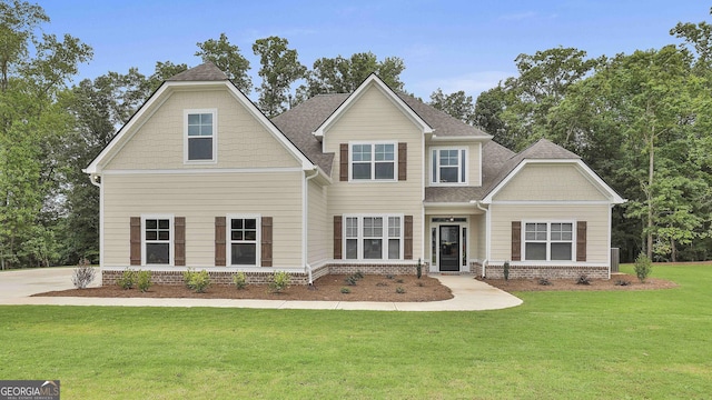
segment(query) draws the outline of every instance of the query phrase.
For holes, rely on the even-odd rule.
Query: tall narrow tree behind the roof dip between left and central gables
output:
[[[267,117],[275,117],[289,108],[289,88],[307,71],[297,59],[297,51],[288,49],[288,44],[287,39],[278,37],[258,39],[253,44],[261,64],[257,72],[263,79],[257,88],[258,106]]]

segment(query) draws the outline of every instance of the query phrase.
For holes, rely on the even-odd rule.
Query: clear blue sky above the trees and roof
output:
[[[405,61],[405,89],[427,100],[437,88],[476,96],[515,76],[514,59],[557,46],[591,57],[678,43],[679,21],[710,20],[700,0],[42,0],[50,33],[93,48],[80,78],[130,67],[150,74],[156,61],[200,63],[196,43],[225,32],[259,84],[256,39],[289,40],[307,67],[320,57],[373,51]],[[254,97],[254,92],[253,96]]]

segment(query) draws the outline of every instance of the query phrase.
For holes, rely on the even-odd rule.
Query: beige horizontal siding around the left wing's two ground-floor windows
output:
[[[186,266],[215,266],[215,217],[273,217],[273,266],[301,264],[303,173],[105,174],[103,261],[129,263],[129,218],[186,218]]]

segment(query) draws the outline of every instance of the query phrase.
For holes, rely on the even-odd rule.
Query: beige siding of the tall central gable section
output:
[[[349,141],[407,143],[407,180],[338,181],[339,144]],[[328,189],[328,219],[345,213],[413,216],[413,258],[423,256],[423,133],[377,88],[370,87],[324,133],[325,152],[334,152],[334,182]],[[397,149],[397,146],[396,146]],[[397,166],[396,166],[397,178]]]

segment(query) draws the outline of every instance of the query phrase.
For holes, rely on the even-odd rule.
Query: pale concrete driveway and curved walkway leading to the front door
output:
[[[520,306],[518,298],[475,280],[472,276],[434,274],[451,288],[453,299],[428,302],[375,301],[297,301],[231,299],[149,299],[30,297],[52,290],[72,289],[73,268],[48,268],[0,272],[0,306],[127,306],[127,307],[222,307],[300,310],[376,310],[376,311],[479,311]],[[97,271],[98,272],[98,271]],[[97,279],[98,280],[98,279]],[[92,286],[98,286],[95,282]]]

